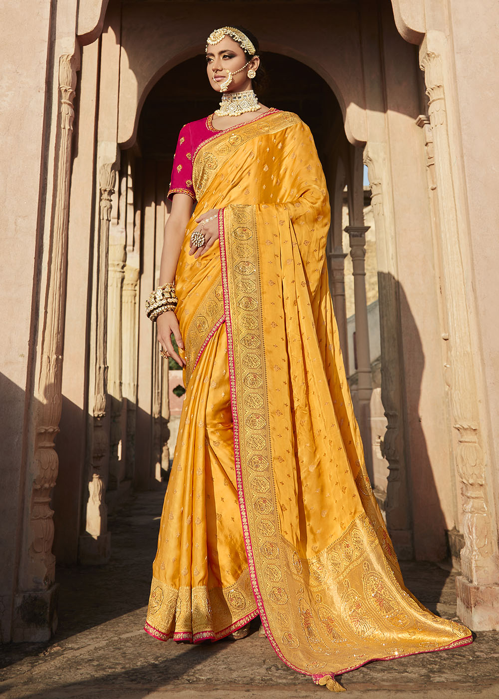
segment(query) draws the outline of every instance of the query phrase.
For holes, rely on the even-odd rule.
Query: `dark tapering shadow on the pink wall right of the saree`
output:
[[[447,545],[449,526],[440,503],[439,488],[442,491],[449,487],[450,473],[445,473],[440,463],[431,463],[421,423],[420,400],[421,382],[425,370],[424,349],[417,321],[414,319],[401,284],[392,275],[382,272],[378,273],[378,284],[382,327],[382,400],[385,414],[389,418],[389,428],[381,445],[382,454],[385,458],[390,457],[391,463],[386,502],[389,531],[396,538],[396,531],[393,530],[404,528],[403,520],[407,517],[408,525],[412,528],[414,557],[417,560],[443,561],[449,558]],[[386,313],[386,308],[393,308],[395,305],[386,298],[387,294],[396,296],[400,313],[400,345],[396,338],[396,322],[388,328],[389,332],[386,332],[386,318],[383,315],[384,312]],[[438,343],[439,338],[435,337],[435,352],[440,355]],[[426,347],[428,344],[426,342]],[[426,382],[428,383],[428,377]],[[386,399],[388,391],[391,391],[391,401]],[[400,391],[399,400],[396,398],[398,391]],[[392,410],[396,415],[389,415]],[[437,417],[441,419],[442,405],[437,406],[434,403],[432,410],[440,410],[439,415],[435,414],[435,419]],[[433,416],[430,415],[429,419],[433,419]],[[370,436],[372,444],[377,435]],[[394,457],[391,456],[392,453]],[[435,475],[440,479],[445,478],[446,482],[439,482],[437,487]],[[407,514],[403,512],[404,483],[407,484],[409,510]]]

